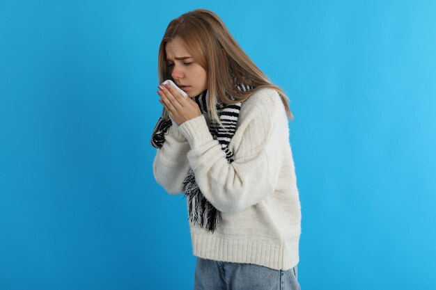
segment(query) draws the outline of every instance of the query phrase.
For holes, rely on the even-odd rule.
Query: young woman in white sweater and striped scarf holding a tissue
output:
[[[173,19],[159,47],[157,182],[187,197],[194,289],[299,289],[301,211],[288,97],[209,10]]]

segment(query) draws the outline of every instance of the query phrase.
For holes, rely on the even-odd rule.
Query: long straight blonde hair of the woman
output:
[[[224,22],[210,10],[193,10],[169,23],[159,46],[157,61],[159,83],[166,79],[173,80],[171,70],[166,64],[165,46],[167,42],[176,37],[185,42],[189,53],[207,72],[209,93],[207,106],[211,120],[221,124],[215,107],[217,97],[224,104],[235,104],[244,102],[252,93],[262,88],[277,90],[288,117],[293,119],[288,106],[289,98],[285,92],[270,82],[238,45]],[[253,89],[238,90],[235,85],[239,83],[251,86]],[[226,92],[234,100],[226,97]],[[169,115],[165,109],[163,115],[166,120],[169,120]]]

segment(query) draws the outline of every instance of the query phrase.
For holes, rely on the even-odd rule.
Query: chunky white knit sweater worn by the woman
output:
[[[173,122],[153,163],[168,193],[182,192],[189,166],[210,203],[221,211],[212,234],[190,223],[193,254],[205,259],[288,270],[298,264],[301,210],[286,111],[272,89],[242,104],[226,154],[208,130],[207,114]]]

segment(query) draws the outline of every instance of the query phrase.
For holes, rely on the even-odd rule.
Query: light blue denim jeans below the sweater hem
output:
[[[194,290],[300,290],[297,266],[288,271],[197,257]]]

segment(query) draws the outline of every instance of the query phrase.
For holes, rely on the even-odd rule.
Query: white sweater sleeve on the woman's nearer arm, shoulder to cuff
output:
[[[260,202],[274,192],[279,178],[281,148],[288,142],[286,111],[277,92],[258,101],[242,106],[242,122],[231,140],[235,144],[232,163],[212,138],[203,116],[179,127],[191,147],[187,159],[198,187],[224,213],[243,211]]]

